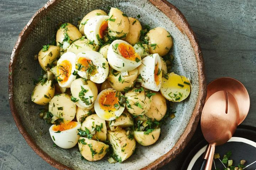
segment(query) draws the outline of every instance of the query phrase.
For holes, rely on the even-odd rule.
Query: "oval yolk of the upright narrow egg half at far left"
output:
[[[68,60],[62,61],[57,67],[58,81],[65,83],[68,81],[72,70],[72,64]]]

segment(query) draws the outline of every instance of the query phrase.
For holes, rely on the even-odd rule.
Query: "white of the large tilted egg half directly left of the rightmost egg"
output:
[[[110,47],[108,48],[108,52],[107,52],[107,59],[108,59],[108,63],[110,64],[110,67],[112,67],[113,69],[119,72],[123,72],[123,71],[129,72],[137,68],[138,66],[140,66],[140,64],[142,63],[141,60],[139,62],[136,62],[136,61],[126,59],[121,55],[118,48],[115,47],[116,44],[120,44],[120,43],[130,45],[128,42],[123,40],[114,40],[110,44]],[[131,47],[134,49],[133,46]]]

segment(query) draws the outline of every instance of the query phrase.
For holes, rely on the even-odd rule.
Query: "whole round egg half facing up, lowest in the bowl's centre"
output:
[[[104,120],[114,120],[124,111],[125,98],[123,94],[112,88],[102,90],[94,103],[98,117]]]

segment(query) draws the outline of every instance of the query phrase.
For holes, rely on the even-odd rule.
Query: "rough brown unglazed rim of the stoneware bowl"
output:
[[[25,138],[26,142],[30,147],[36,152],[41,158],[43,158],[47,163],[52,165],[53,167],[59,169],[59,170],[72,170],[72,168],[63,165],[62,163],[59,163],[57,160],[50,157],[46,152],[44,152],[32,139],[32,137],[28,134],[24,126],[22,125],[20,116],[17,113],[17,109],[15,108],[14,103],[14,95],[13,95],[13,81],[14,77],[12,72],[15,69],[15,63],[17,61],[17,56],[21,50],[22,44],[24,40],[27,38],[28,34],[30,34],[31,27],[33,28],[35,26],[35,22],[38,19],[39,14],[42,11],[47,11],[48,7],[52,7],[55,4],[57,4],[60,0],[50,0],[44,5],[42,8],[40,8],[30,19],[30,21],[26,24],[26,26],[23,28],[21,33],[18,36],[18,40],[12,50],[11,54],[11,60],[9,64],[9,102],[10,102],[10,109],[12,116],[14,118],[14,121],[16,123],[16,126],[22,136]],[[196,55],[197,60],[197,66],[198,66],[198,80],[199,80],[199,92],[198,92],[198,98],[197,103],[194,108],[194,111],[191,115],[190,121],[188,122],[188,125],[186,129],[184,130],[183,134],[180,136],[179,140],[176,142],[175,146],[168,151],[166,154],[162,155],[160,158],[156,159],[153,163],[150,163],[149,165],[145,166],[141,170],[151,170],[151,169],[157,169],[161,166],[169,163],[172,159],[174,159],[187,145],[187,143],[190,141],[191,137],[193,136],[194,132],[196,131],[197,124],[199,122],[199,119],[201,117],[201,112],[203,109],[204,101],[206,99],[206,78],[204,75],[204,61],[202,57],[202,51],[199,46],[199,42],[196,38],[196,35],[194,34],[192,28],[188,24],[185,16],[181,13],[178,8],[176,8],[174,5],[172,5],[170,2],[166,0],[148,0],[156,6],[160,11],[162,11],[167,17],[172,19],[172,21],[175,23],[178,29],[181,30],[181,32],[185,33],[188,36],[188,39],[190,40],[190,43],[194,49],[194,53]],[[171,16],[171,13],[176,13],[175,16]]]

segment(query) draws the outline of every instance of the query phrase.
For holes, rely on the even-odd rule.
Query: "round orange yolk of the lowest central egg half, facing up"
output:
[[[105,110],[105,112],[113,112],[116,110],[114,105],[119,101],[118,97],[116,97],[115,91],[106,91],[99,98],[100,107]]]

